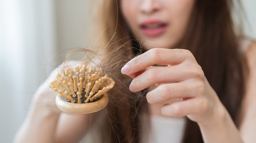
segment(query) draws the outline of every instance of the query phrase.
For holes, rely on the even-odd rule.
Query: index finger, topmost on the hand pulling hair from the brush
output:
[[[160,65],[178,65],[187,58],[193,55],[188,50],[184,49],[151,49],[129,61],[122,69],[123,74],[131,75],[138,71],[143,71],[145,68],[160,64]]]

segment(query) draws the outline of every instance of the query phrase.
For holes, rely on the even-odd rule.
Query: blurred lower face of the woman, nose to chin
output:
[[[121,11],[142,45],[172,48],[184,36],[194,0],[121,0]]]

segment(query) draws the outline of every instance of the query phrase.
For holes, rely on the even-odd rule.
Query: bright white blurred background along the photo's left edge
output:
[[[10,143],[57,52],[52,0],[0,0],[0,138]]]

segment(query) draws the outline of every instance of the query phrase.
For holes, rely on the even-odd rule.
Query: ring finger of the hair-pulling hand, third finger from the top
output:
[[[146,98],[150,104],[162,103],[174,98],[193,98],[198,94],[198,90],[195,90],[197,88],[197,84],[194,83],[162,84],[148,92]]]

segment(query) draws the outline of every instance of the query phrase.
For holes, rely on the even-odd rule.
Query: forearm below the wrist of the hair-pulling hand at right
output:
[[[198,122],[205,143],[243,143],[241,135],[224,106],[220,114]]]

